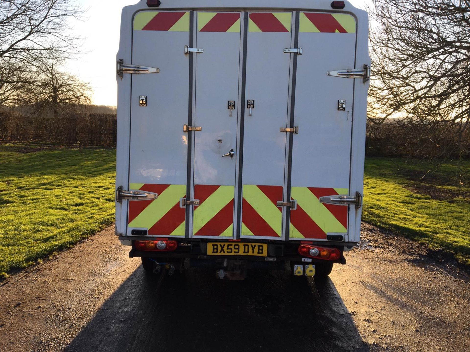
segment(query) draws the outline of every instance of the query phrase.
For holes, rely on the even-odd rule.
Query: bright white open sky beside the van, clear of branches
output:
[[[67,68],[91,86],[93,104],[115,106],[117,105],[116,54],[119,46],[121,10],[127,5],[137,3],[138,0],[77,0],[77,2],[87,11],[84,21],[74,21],[71,26],[74,34],[83,38],[84,54],[70,60]],[[366,0],[350,0],[350,2],[358,8],[364,8]]]

